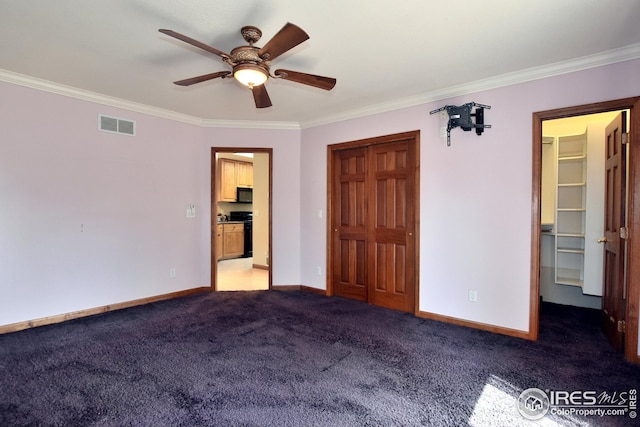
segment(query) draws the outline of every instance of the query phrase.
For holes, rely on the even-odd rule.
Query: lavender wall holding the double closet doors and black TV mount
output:
[[[637,96],[638,75],[640,61],[629,61],[305,130],[302,282],[326,286],[315,266],[326,258],[316,211],[326,209],[327,145],[419,129],[420,310],[528,331],[532,113]],[[480,137],[456,129],[447,147],[429,111],[470,101],[492,106],[493,127]]]

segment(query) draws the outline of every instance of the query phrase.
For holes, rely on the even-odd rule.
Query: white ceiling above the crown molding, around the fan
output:
[[[636,0],[0,0],[0,79],[18,73],[198,119],[304,124],[494,76],[535,78],[590,55],[640,57],[639,21]],[[335,77],[332,91],[270,79],[273,107],[256,109],[233,79],[172,83],[230,68],[159,28],[229,52],[246,44],[242,26],[259,27],[263,46],[286,22],[310,39],[272,69]]]

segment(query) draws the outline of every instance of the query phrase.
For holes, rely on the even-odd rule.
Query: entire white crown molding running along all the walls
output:
[[[640,43],[301,122],[203,119],[0,69],[0,81],[201,127],[300,130],[640,58]]]

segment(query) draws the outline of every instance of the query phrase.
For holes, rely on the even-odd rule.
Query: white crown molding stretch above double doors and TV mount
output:
[[[638,58],[640,58],[640,43],[632,44],[618,49],[608,50],[605,52],[600,52],[593,55],[587,55],[568,61],[561,61],[539,67],[527,68],[525,70],[515,71],[512,73],[501,74],[498,76],[476,80],[474,82],[465,83],[462,85],[451,86],[428,93],[413,95],[406,98],[400,98],[389,102],[368,105],[362,108],[349,110],[332,116],[325,116],[319,119],[303,121],[300,123],[300,127],[302,129],[307,129],[344,120],[357,119],[373,114],[386,113],[402,108],[415,107],[417,105],[436,102],[443,99],[455,98],[457,96],[469,95],[519,83],[526,83],[533,80],[559,76],[562,74],[587,70],[589,68],[601,67],[618,62],[631,61]]]

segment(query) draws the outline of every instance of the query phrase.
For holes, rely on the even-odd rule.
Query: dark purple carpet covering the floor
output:
[[[541,319],[529,342],[306,292],[194,295],[0,336],[0,426],[528,425],[524,389],[640,386],[598,312]]]

